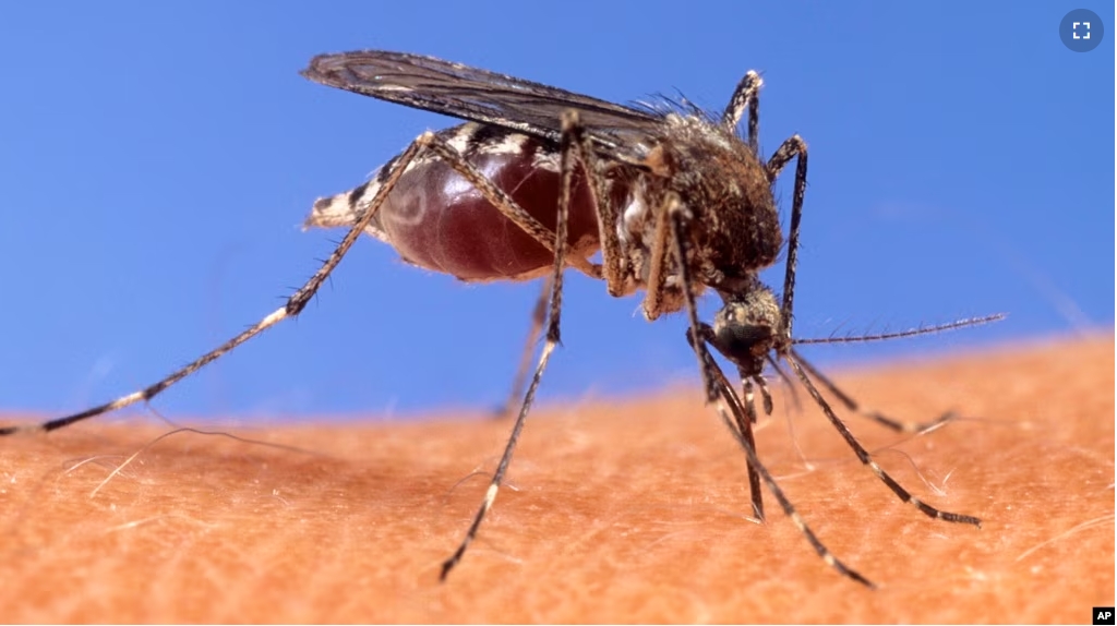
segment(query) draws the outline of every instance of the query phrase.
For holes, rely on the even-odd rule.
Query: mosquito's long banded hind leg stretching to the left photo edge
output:
[[[112,402],[102,404],[99,406],[94,406],[93,408],[88,408],[80,413],[75,413],[73,415],[67,415],[65,417],[59,417],[57,420],[50,420],[48,422],[44,422],[41,424],[37,424],[34,426],[0,427],[0,436],[15,434],[22,430],[41,430],[49,432],[57,428],[61,428],[64,426],[68,426],[75,422],[80,422],[83,420],[96,417],[97,415],[103,415],[105,413],[116,411],[118,408],[124,408],[125,406],[131,406],[139,402],[147,402],[153,397],[155,397],[156,395],[161,394],[168,387],[178,383],[179,381],[185,378],[187,376],[190,376],[194,372],[201,369],[202,367],[206,367],[207,365],[217,360],[218,358],[221,358],[225,354],[229,353],[237,346],[240,346],[245,341],[251,339],[252,337],[259,335],[260,333],[267,330],[268,328],[275,326],[276,324],[279,324],[284,319],[297,316],[303,310],[303,308],[306,307],[306,304],[311,300],[311,298],[313,298],[314,295],[318,291],[318,288],[322,287],[322,283],[326,280],[326,278],[330,277],[330,273],[334,271],[334,268],[337,267],[337,263],[340,263],[342,258],[345,257],[345,253],[349,252],[350,248],[353,247],[353,243],[356,242],[357,238],[361,237],[361,233],[364,231],[365,227],[367,227],[369,223],[372,221],[373,215],[375,215],[376,211],[380,209],[380,205],[383,204],[384,199],[388,198],[388,194],[392,191],[392,187],[395,186],[395,183],[403,174],[403,171],[407,168],[408,164],[411,163],[411,161],[413,161],[416,157],[418,157],[423,151],[428,150],[428,147],[430,146],[430,142],[433,141],[433,138],[435,135],[431,133],[426,133],[421,135],[418,139],[412,142],[411,145],[408,146],[405,151],[403,151],[403,153],[399,156],[399,158],[395,160],[394,164],[391,167],[385,167],[382,171],[380,180],[378,181],[380,183],[380,189],[376,192],[376,194],[372,198],[372,200],[369,201],[369,203],[365,205],[360,218],[357,218],[357,220],[353,223],[349,232],[345,233],[345,237],[337,244],[334,251],[330,254],[330,258],[322,263],[322,267],[318,268],[318,271],[314,272],[314,276],[312,276],[311,279],[307,280],[303,287],[300,287],[297,291],[295,291],[295,293],[293,293],[287,299],[287,304],[285,306],[268,314],[266,317],[264,317],[264,319],[256,322],[254,326],[249,327],[244,333],[221,344],[217,348],[206,353],[198,359],[191,362],[187,366],[182,367],[181,369],[178,369],[176,372],[172,373],[170,376],[163,378],[162,381],[159,381],[157,383],[149,385],[131,394],[121,396]]]

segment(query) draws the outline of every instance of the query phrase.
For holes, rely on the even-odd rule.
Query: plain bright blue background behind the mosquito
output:
[[[467,6],[468,4],[468,6]],[[823,365],[1019,343],[1114,321],[1114,9],[1081,4],[4,2],[0,408],[58,414],[154,382],[283,302],[361,183],[433,114],[298,76],[315,54],[435,55],[601,98],[720,110],[763,71],[765,154],[810,144],[796,335],[1004,311]],[[790,176],[780,185],[784,219]],[[544,398],[697,384],[684,318],[570,275]],[[766,275],[780,286],[782,267]],[[363,240],[297,321],[156,402],[172,417],[398,414],[503,399],[534,285],[468,286]],[[705,306],[707,315],[712,306]]]

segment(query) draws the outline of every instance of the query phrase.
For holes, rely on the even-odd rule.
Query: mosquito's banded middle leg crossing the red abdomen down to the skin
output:
[[[516,442],[519,441],[519,434],[524,430],[524,423],[527,421],[527,414],[532,408],[532,403],[535,401],[535,392],[540,387],[540,381],[543,379],[543,372],[547,368],[547,362],[551,360],[551,354],[561,341],[560,316],[562,314],[562,270],[565,264],[563,257],[566,252],[566,247],[563,245],[563,242],[566,241],[566,221],[570,213],[570,199],[572,195],[571,187],[573,186],[574,180],[574,153],[576,150],[574,146],[581,142],[582,132],[583,129],[579,123],[577,113],[574,110],[565,112],[562,116],[558,214],[555,219],[555,242],[553,248],[555,259],[554,267],[551,271],[551,307],[547,312],[547,330],[546,338],[543,343],[543,351],[540,353],[540,360],[535,365],[535,374],[532,376],[532,383],[527,386],[527,393],[524,394],[524,402],[519,406],[519,414],[516,416],[516,423],[512,427],[512,434],[508,435],[508,443],[505,444],[504,454],[500,455],[500,463],[497,464],[496,471],[493,473],[493,479],[489,481],[488,490],[485,492],[485,500],[481,501],[481,505],[474,516],[474,521],[469,524],[469,530],[466,531],[466,537],[461,540],[461,543],[458,545],[458,549],[454,551],[450,558],[442,562],[442,571],[439,575],[441,580],[446,580],[450,570],[454,569],[454,567],[461,560],[461,557],[466,553],[466,549],[469,548],[474,538],[477,537],[477,529],[480,528],[481,521],[485,520],[485,514],[493,508],[493,502],[496,501],[496,495],[500,490],[504,475],[508,471],[508,464],[512,463],[512,454],[516,450]]]

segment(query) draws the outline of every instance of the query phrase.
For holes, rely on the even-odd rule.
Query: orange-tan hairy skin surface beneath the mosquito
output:
[[[113,476],[169,428],[0,440],[0,622],[1087,623],[1114,604],[1111,336],[836,378],[897,416],[982,417],[904,441],[847,416],[903,484],[978,530],[900,503],[805,394],[785,412],[777,389],[761,458],[875,591],[771,494],[767,523],[745,517],[744,454],[682,389],[541,407],[514,489],[441,585],[506,423],[236,431],[315,454],[180,433]]]

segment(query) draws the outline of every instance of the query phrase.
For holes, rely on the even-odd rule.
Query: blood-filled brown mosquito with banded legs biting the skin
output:
[[[849,411],[889,428],[918,431],[927,425],[900,422],[861,406],[794,348],[817,341],[792,338],[808,150],[793,135],[766,161],[760,156],[762,80],[757,73],[745,74],[720,116],[686,100],[613,104],[404,52],[319,55],[303,76],[466,123],[423,133],[364,184],[314,203],[307,227],[340,227],[349,232],[285,306],[147,387],[36,426],[3,427],[0,435],[23,428],[54,431],[152,399],[265,329],[297,316],[366,233],[392,245],[409,263],[464,281],[543,279],[522,363],[531,363],[532,348],[545,326],[543,347],[480,508],[458,548],[442,564],[443,580],[496,500],[547,363],[560,345],[566,269],[603,280],[613,297],[642,292],[649,321],[674,312],[687,316],[686,338],[697,358],[706,401],[716,406],[745,453],[754,512],[764,519],[763,483],[819,556],[842,576],[872,587],[818,539],[756,454],[752,425],[757,417],[757,391],[764,412],[773,411],[765,366],[791,382],[780,363],[790,366],[860,462],[901,501],[932,518],[981,526],[975,517],[923,502],[889,476],[838,417],[819,386]],[[738,133],[743,119],[744,138]],[[793,160],[791,222],[784,242],[773,185]],[[782,250],[785,271],[782,299],[777,299],[758,272],[773,266]],[[600,262],[594,262],[599,252]],[[722,300],[713,324],[699,320],[696,308],[696,299],[706,290]],[[853,340],[934,333],[1000,317]],[[741,395],[709,347],[736,367]],[[526,372],[522,366],[514,383],[516,397]],[[928,425],[951,417],[943,415]]]

